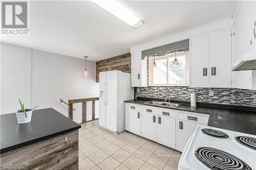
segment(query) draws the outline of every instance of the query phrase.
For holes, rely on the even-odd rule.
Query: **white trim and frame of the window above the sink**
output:
[[[177,52],[177,57],[178,56],[183,56],[185,54],[185,62],[186,62],[186,68],[185,68],[185,75],[186,75],[186,80],[185,80],[185,84],[167,84],[168,82],[168,77],[166,78],[166,84],[153,84],[153,67],[152,67],[152,64],[154,62],[154,57],[150,57],[149,60],[148,60],[148,64],[149,64],[149,80],[148,80],[148,86],[183,86],[183,87],[188,87],[189,86],[189,52]],[[156,60],[160,60],[160,59],[163,59],[163,58],[167,58],[167,63],[168,63],[168,58],[169,57],[173,57],[175,56],[175,53],[170,53],[170,54],[167,54],[167,55],[164,55],[164,56],[159,56],[159,57],[156,57]],[[168,67],[166,68],[167,69],[167,75],[168,75]]]

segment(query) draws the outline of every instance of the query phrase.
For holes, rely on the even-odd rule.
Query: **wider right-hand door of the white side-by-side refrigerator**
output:
[[[118,132],[118,71],[106,71],[106,129]]]

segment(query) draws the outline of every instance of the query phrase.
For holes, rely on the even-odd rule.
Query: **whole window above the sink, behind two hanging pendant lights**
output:
[[[188,52],[177,52],[178,65],[173,65],[175,53],[156,57],[156,67],[152,67],[154,57],[149,59],[150,86],[188,86]]]

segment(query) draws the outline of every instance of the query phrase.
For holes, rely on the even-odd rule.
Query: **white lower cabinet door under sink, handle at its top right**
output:
[[[151,113],[142,112],[141,136],[157,141],[157,116]]]

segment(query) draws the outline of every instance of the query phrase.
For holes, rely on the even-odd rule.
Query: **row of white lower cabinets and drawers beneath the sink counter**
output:
[[[125,104],[125,130],[183,151],[197,125],[207,125],[209,115],[160,107]]]

